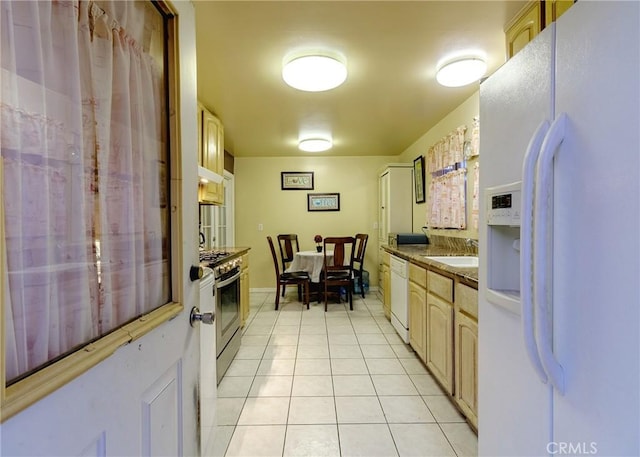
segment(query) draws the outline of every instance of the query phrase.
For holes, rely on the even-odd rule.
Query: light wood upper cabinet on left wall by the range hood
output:
[[[203,105],[198,104],[198,164],[220,176],[224,172],[224,129],[220,120]],[[222,205],[224,186],[222,183],[199,183],[200,203]]]

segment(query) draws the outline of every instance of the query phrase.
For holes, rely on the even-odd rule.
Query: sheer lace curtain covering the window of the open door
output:
[[[149,3],[0,8],[11,380],[169,300],[167,159]]]

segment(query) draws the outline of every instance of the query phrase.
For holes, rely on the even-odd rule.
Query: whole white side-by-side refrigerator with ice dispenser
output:
[[[480,86],[480,455],[640,455],[639,43],[579,1]]]

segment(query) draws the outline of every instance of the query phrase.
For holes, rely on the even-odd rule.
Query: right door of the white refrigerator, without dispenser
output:
[[[556,30],[551,451],[640,455],[640,6],[577,2]]]

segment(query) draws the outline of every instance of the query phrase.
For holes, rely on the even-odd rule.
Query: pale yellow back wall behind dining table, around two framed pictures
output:
[[[395,157],[236,157],[236,245],[249,246],[250,287],[275,288],[267,235],[297,233],[301,250],[313,237],[368,233],[365,269],[377,285],[378,170]],[[314,190],[281,190],[280,172],[313,171]],[[340,211],[308,212],[307,193],[340,193]],[[263,230],[258,229],[262,224]]]

